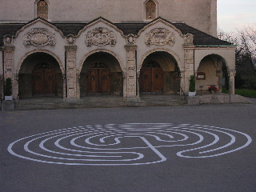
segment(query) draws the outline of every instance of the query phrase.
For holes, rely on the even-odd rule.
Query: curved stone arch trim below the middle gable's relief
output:
[[[104,52],[104,53],[107,53],[107,54],[111,54],[114,58],[116,58],[119,62],[119,65],[121,67],[121,70],[122,72],[126,71],[125,69],[125,66],[121,60],[121,58],[118,56],[118,54],[115,54],[113,51],[111,50],[105,50],[105,49],[97,49],[97,50],[92,50],[90,51],[89,53],[87,53],[83,58],[82,60],[79,62],[79,66],[78,66],[78,73],[81,73],[81,70],[82,70],[82,66],[83,66],[83,63],[86,61],[86,58],[88,58],[90,55],[92,54],[96,54],[96,53],[99,53],[99,52]]]

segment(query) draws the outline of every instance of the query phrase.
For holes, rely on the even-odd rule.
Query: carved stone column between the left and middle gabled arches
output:
[[[76,50],[77,46],[65,46],[66,49],[66,98],[77,98]]]

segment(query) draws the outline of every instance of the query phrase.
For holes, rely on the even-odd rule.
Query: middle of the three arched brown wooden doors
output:
[[[93,63],[88,74],[89,94],[110,94],[110,70],[104,63]]]

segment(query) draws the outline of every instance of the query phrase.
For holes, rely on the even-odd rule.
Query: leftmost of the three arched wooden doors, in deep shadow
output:
[[[32,78],[33,94],[56,95],[56,71],[50,64],[41,63],[36,66]]]

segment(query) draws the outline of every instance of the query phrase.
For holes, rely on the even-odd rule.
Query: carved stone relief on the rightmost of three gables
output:
[[[174,46],[174,33],[171,33],[170,30],[164,28],[155,28],[154,30],[150,30],[150,33],[146,34],[145,43],[146,46]]]

